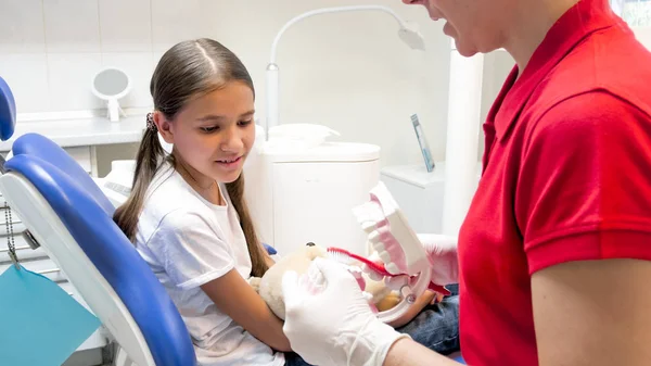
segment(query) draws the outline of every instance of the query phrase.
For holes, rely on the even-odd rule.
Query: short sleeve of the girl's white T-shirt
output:
[[[167,214],[146,243],[174,285],[192,289],[234,268],[228,243],[201,214],[182,210]]]

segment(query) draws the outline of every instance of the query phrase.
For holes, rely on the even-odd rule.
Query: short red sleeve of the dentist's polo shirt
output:
[[[649,115],[605,91],[584,93],[548,110],[525,141],[514,214],[529,274],[651,260]]]

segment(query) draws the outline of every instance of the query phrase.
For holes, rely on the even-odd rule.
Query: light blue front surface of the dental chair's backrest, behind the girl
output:
[[[15,155],[33,155],[40,157],[50,164],[58,166],[65,172],[74,181],[84,187],[98,204],[108,214],[113,216],[115,207],[108,201],[104,192],[92,180],[88,172],[77,163],[65,150],[38,134],[25,134],[18,137],[12,147],[12,152]]]

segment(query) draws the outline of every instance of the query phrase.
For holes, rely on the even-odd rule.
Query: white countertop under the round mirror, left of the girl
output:
[[[140,142],[144,128],[145,119],[142,116],[123,117],[119,122],[111,122],[105,117],[18,121],[12,138],[0,141],[0,151],[11,150],[13,141],[29,132],[43,135],[62,148],[68,148]]]

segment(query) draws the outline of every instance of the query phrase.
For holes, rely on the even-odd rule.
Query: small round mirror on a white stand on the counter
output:
[[[107,67],[92,78],[92,92],[105,100],[111,121],[118,121],[122,112],[117,100],[124,98],[131,88],[129,76],[122,70]]]

